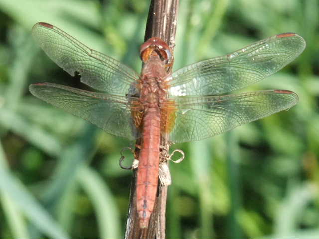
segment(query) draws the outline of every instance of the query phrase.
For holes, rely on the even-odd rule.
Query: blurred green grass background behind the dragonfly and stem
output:
[[[28,91],[82,87],[31,37],[39,21],[140,71],[147,0],[0,0],[0,238],[122,238],[131,172],[113,137]],[[175,68],[296,32],[304,53],[246,88],[287,89],[297,106],[175,145],[167,238],[319,238],[319,0],[182,0]]]

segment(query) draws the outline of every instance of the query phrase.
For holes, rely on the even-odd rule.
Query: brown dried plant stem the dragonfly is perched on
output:
[[[144,38],[147,40],[151,37],[160,37],[169,45],[172,54],[175,47],[178,5],[179,0],[151,0]],[[171,67],[169,70],[171,70]],[[138,140],[136,144],[140,145],[140,141]],[[169,144],[165,137],[161,138],[161,145],[166,152],[169,152]],[[135,153],[139,155],[138,148],[136,148]],[[168,164],[168,162],[166,163]],[[149,226],[148,228],[140,229],[136,210],[136,171],[133,172],[125,239],[165,238],[167,187],[159,183]]]

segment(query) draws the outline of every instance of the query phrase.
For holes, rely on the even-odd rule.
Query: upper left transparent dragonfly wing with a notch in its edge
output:
[[[100,52],[92,50],[59,28],[37,23],[32,35],[45,53],[70,75],[81,75],[81,82],[110,94],[125,95],[139,75]]]

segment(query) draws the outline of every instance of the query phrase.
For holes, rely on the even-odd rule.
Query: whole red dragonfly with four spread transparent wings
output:
[[[278,34],[233,53],[168,73],[169,46],[160,38],[141,45],[142,72],[97,52],[59,28],[37,23],[32,34],[45,53],[70,75],[97,92],[54,83],[35,83],[30,92],[112,135],[141,138],[137,169],[137,211],[146,228],[156,199],[160,138],[202,140],[289,109],[298,102],[289,90],[230,94],[282,69],[305,48],[295,33]]]

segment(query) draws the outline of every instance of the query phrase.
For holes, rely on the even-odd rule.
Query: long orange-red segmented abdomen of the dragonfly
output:
[[[140,227],[148,227],[156,198],[160,165],[160,109],[149,108],[143,119],[143,142],[137,172],[137,211]]]

